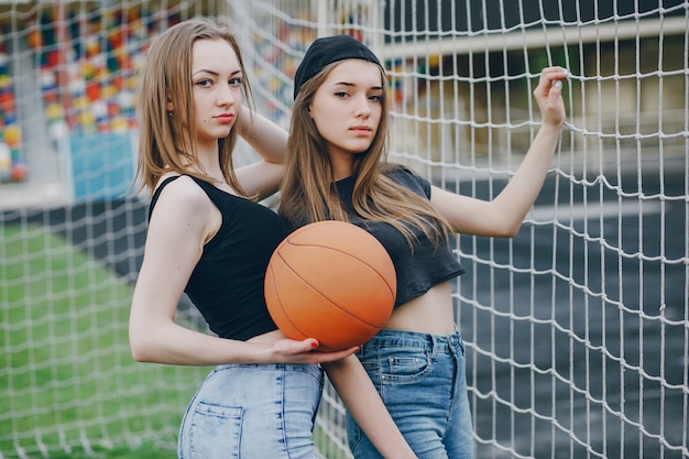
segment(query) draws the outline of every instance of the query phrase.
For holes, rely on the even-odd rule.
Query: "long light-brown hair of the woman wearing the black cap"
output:
[[[286,171],[281,187],[278,214],[292,228],[321,220],[348,221],[347,209],[333,186],[335,177],[326,141],[309,116],[316,90],[327,78],[335,62],[325,66],[299,89],[292,108]],[[385,86],[385,74],[381,68]],[[356,212],[364,219],[386,222],[413,244],[411,227],[416,227],[435,243],[449,233],[449,225],[427,199],[384,175],[395,167],[387,163],[387,95],[383,91],[382,114],[369,150],[354,156]]]

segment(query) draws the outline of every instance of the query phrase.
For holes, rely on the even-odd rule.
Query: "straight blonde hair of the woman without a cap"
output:
[[[225,40],[232,46],[244,78],[242,96],[250,103],[251,88],[245,78],[244,62],[234,35],[215,22],[195,18],[173,25],[153,41],[145,53],[139,75],[139,160],[135,179],[139,192],[153,190],[167,172],[193,175],[207,182],[196,155],[194,101],[192,96],[192,48],[199,40]],[[174,111],[167,111],[172,103]],[[227,183],[245,196],[232,164],[237,130],[218,140],[218,161]]]

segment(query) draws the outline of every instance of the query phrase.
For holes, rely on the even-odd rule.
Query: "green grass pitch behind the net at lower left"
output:
[[[176,457],[182,413],[208,370],[134,362],[131,295],[63,238],[0,228],[1,458]]]

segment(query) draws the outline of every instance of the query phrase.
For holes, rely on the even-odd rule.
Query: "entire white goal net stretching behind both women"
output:
[[[540,69],[568,68],[567,123],[521,231],[456,239],[475,456],[689,458],[680,0],[2,2],[0,458],[175,448],[209,369],[133,362],[147,203],[122,195],[142,53],[194,15],[232,26],[258,111],[285,128],[308,44],[369,44],[389,76],[391,161],[481,199],[538,130]],[[188,300],[176,319],[204,329]],[[314,439],[351,457],[330,386]]]

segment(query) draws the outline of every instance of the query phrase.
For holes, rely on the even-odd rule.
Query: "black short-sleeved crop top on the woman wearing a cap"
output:
[[[406,167],[397,167],[386,176],[419,196],[430,199],[430,183]],[[383,244],[395,265],[397,273],[397,296],[395,307],[422,296],[434,285],[464,273],[457,255],[450,248],[440,243],[437,248],[420,230],[414,229],[417,242],[414,251],[404,234],[389,223],[363,220],[354,214],[352,193],[354,179],[348,177],[336,183],[340,199],[350,212],[350,221],[373,234]]]

